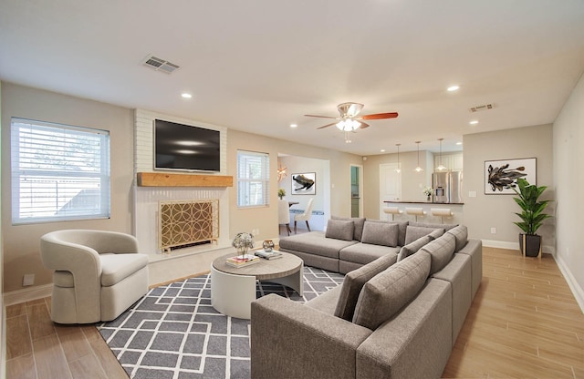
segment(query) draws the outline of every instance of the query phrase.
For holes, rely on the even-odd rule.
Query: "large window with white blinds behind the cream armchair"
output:
[[[110,217],[110,132],[11,121],[13,224]]]

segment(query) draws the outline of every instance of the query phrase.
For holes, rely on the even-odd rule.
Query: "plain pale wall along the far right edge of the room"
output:
[[[584,77],[559,113],[553,130],[558,210],[556,260],[584,310]]]

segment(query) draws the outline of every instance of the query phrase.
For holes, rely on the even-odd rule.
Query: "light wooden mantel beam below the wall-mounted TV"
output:
[[[168,174],[139,172],[138,187],[233,187],[234,177],[226,175]]]

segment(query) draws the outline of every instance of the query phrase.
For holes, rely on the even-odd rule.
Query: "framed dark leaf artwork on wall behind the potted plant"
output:
[[[517,179],[536,182],[536,159],[485,160],[485,195],[515,195]]]

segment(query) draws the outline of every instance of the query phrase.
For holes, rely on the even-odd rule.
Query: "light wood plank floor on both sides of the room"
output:
[[[483,282],[446,378],[584,378],[584,314],[553,258],[483,249]],[[50,299],[11,305],[6,374],[126,378],[95,326],[50,322]]]

